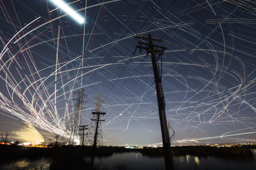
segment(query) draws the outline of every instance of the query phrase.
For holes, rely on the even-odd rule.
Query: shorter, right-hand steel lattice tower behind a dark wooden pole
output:
[[[101,115],[105,115],[105,112],[101,112],[101,103],[103,100],[101,100],[102,94],[98,94],[97,96],[97,102],[96,102],[96,107],[95,107],[95,112],[92,112],[93,117],[92,117],[92,122],[90,124],[88,134],[85,139],[86,145],[91,145],[91,146],[96,146],[96,145],[103,145],[103,140],[102,140],[102,131],[101,131],[101,121],[105,120],[100,120]]]

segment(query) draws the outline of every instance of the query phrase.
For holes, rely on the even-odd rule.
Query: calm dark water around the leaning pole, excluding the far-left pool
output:
[[[197,157],[193,155],[175,156],[174,162],[177,170],[255,170],[256,150],[252,149],[252,160],[231,160],[216,157]],[[90,158],[85,158],[90,161]],[[164,157],[143,156],[140,152],[114,153],[110,157],[95,157],[96,169],[126,169],[126,170],[159,170],[164,169]]]

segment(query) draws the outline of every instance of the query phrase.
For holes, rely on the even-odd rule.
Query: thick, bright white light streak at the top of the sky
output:
[[[52,3],[61,8],[62,11],[66,12],[72,18],[74,18],[78,23],[84,23],[84,18],[76,13],[68,4],[65,4],[61,0],[50,0]]]

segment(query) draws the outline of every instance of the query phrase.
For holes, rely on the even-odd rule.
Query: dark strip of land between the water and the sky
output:
[[[26,147],[13,145],[0,145],[3,159],[35,158],[37,156],[51,156],[55,154],[64,154],[65,152],[79,152],[83,156],[92,155],[92,147],[81,146],[61,146],[51,148]],[[207,147],[207,146],[175,146],[171,147],[173,156],[195,155],[195,156],[215,156],[249,159],[253,157],[252,152],[247,147]],[[114,152],[141,152],[142,155],[158,156],[163,155],[163,147],[158,148],[124,148],[124,147],[99,147],[95,149],[95,155],[111,155]]]

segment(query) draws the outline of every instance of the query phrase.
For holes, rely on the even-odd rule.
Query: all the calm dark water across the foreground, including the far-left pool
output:
[[[230,160],[216,157],[197,157],[193,155],[175,156],[175,166],[177,170],[255,170],[256,169],[256,149],[251,149],[254,158],[251,160]],[[84,157],[88,162],[90,157]],[[50,159],[21,159],[15,162],[6,162],[0,165],[1,170],[48,170]],[[160,170],[164,169],[164,157],[143,156],[140,152],[121,152],[111,156],[96,156],[94,167],[99,170],[122,169],[122,170]]]

